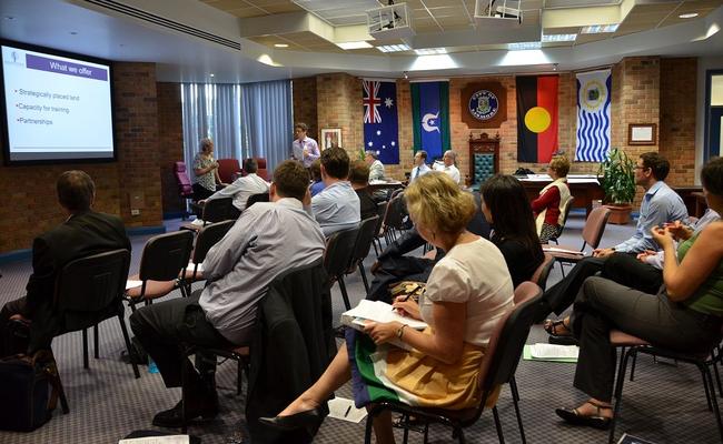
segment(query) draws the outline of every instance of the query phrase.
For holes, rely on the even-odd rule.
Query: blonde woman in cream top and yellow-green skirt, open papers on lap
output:
[[[485,349],[498,320],[513,307],[505,259],[494,244],[465,229],[477,211],[474,198],[448,175],[432,172],[416,179],[405,199],[419,234],[447,254],[432,270],[418,303],[399,299],[393,305],[429,327],[370,322],[366,334],[347,329],[346,345],[321,377],[278,416],[261,418],[265,424],[315,430],[326,401],[353,376],[357,407],[384,400],[448,410],[478,405]],[[394,339],[414,350],[388,345]],[[359,355],[368,359],[359,362]],[[497,393],[489,398],[494,404]],[[375,420],[374,430],[378,443],[394,442],[388,412]]]

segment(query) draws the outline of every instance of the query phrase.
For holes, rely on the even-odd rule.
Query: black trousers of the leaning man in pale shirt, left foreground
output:
[[[198,345],[209,349],[229,349],[234,346],[206,319],[198,304],[200,294],[180,297],[143,306],[130,316],[130,327],[138,341],[152,357],[164,377],[167,387],[181,386],[182,369],[192,369],[186,357],[184,345]],[[190,396],[199,396],[202,387],[215,391],[214,373],[216,357],[197,354],[196,372],[189,372]],[[202,385],[200,383],[204,383]]]

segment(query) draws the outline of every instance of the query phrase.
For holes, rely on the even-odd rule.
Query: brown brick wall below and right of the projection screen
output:
[[[0,205],[0,253],[31,248],[33,238],[65,220],[56,180],[67,170],[83,170],[93,179],[96,210],[120,215],[127,226],[161,224],[156,65],[115,63],[113,69],[118,162],[0,165],[7,199]],[[130,215],[129,191],[143,198],[139,216]]]

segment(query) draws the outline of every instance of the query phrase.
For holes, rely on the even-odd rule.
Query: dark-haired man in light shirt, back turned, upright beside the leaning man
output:
[[[325,236],[357,226],[361,220],[359,196],[347,178],[349,155],[343,148],[334,147],[321,153],[324,191],[311,198],[314,219],[321,225]]]

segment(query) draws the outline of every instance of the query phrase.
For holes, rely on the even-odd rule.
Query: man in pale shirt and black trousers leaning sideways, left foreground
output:
[[[319,224],[303,205],[309,200],[308,185],[309,174],[299,162],[283,162],[274,171],[270,202],[244,211],[206,255],[207,283],[200,295],[143,306],[130,316],[136,337],[158,365],[166,386],[182,384],[185,390],[186,405],[179,402],[159,412],[153,425],[180,427],[184,411],[187,421],[214,417],[218,413],[212,377],[216,359],[197,354],[197,372],[179,343],[211,349],[248,344],[257,305],[271,281],[324,255]]]

